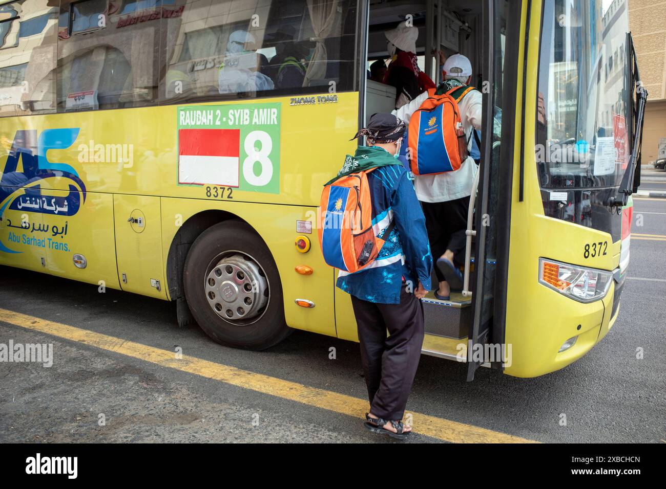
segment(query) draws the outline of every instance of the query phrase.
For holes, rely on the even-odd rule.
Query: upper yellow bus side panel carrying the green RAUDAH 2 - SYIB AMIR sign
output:
[[[337,102],[293,106],[291,98],[283,96],[45,114],[13,118],[11,122],[31,123],[39,128],[39,134],[44,130],[73,134],[67,148],[49,149],[49,161],[73,168],[89,192],[210,200],[232,192],[236,201],[317,206],[324,183],[340,170],[346,154],[353,154],[357,145],[349,139],[358,130],[358,92],[335,97]],[[270,120],[274,123],[254,123],[255,114],[274,108],[279,109],[278,116]],[[184,116],[180,120],[184,112],[202,114],[205,123],[196,124],[201,121],[192,122]],[[233,177],[240,179],[240,184],[221,182],[210,175],[196,184],[180,182],[187,171],[186,162],[179,160],[188,158],[192,150],[198,154],[196,144],[193,148],[188,141],[208,137],[198,136],[200,129],[230,131],[226,134],[238,131],[233,137],[238,138],[240,154],[226,156],[238,156]],[[263,149],[263,144],[273,148],[270,158],[262,151],[245,156],[253,148]],[[264,179],[268,175],[271,178]],[[68,189],[65,179],[58,184],[60,190]]]

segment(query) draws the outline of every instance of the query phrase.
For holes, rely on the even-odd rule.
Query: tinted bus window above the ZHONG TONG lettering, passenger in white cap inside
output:
[[[161,103],[354,90],[356,2],[176,0]]]

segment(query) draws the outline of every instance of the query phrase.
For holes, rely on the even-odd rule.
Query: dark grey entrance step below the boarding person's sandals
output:
[[[468,335],[472,319],[472,297],[452,292],[450,300],[440,301],[430,291],[422,302],[426,333],[456,340]]]

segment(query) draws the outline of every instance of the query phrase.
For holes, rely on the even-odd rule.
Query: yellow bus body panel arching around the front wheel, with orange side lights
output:
[[[336,336],[332,277],[333,269],[326,265],[319,249],[316,235],[316,208],[252,204],[200,199],[162,198],[162,253],[166,257],[178,232],[187,220],[206,210],[230,212],[248,223],[262,237],[273,255],[280,273],[284,316],[288,326],[314,333]],[[296,232],[296,221],[312,222],[312,234]],[[203,231],[203,230],[202,230]],[[300,253],[296,238],[300,235],[310,240],[310,251]],[[312,268],[312,275],[296,273],[297,265]],[[166,260],[163,263],[166,275]],[[314,302],[314,307],[296,305],[296,299]]]

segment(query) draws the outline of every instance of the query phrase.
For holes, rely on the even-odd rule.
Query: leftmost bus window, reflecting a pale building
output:
[[[0,7],[0,116],[55,112],[56,25],[45,2]]]

